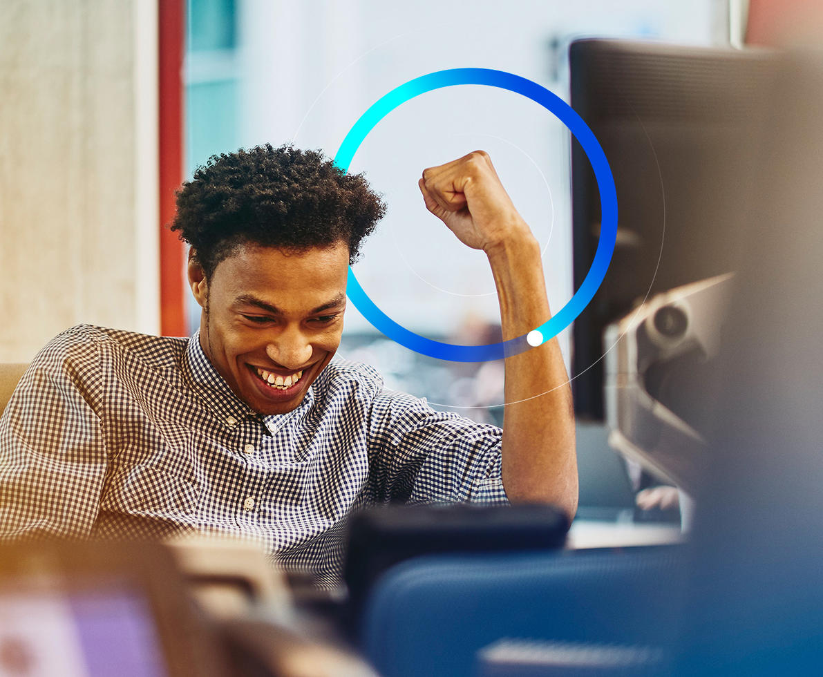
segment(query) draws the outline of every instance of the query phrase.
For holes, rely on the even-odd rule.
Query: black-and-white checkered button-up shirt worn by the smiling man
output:
[[[339,584],[346,517],[387,503],[507,503],[501,431],[334,359],[261,416],[191,339],[81,325],[37,355],[0,419],[0,536],[251,537]]]

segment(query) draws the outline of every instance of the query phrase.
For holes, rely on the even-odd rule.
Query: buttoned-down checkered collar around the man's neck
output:
[[[223,420],[243,420],[247,417],[261,420],[272,433],[292,415],[304,415],[314,402],[314,383],[303,401],[287,414],[261,416],[231,390],[226,380],[217,372],[200,345],[200,332],[188,339],[183,364],[184,374],[193,391],[216,415]]]

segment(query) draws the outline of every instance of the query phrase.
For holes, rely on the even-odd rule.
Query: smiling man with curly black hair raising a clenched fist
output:
[[[488,155],[420,179],[425,205],[491,263],[504,339],[549,318],[540,251]],[[74,327],[0,420],[0,534],[250,536],[339,582],[352,510],[549,502],[574,514],[574,420],[556,341],[505,360],[504,432],[384,389],[332,357],[346,273],[384,214],[361,176],[263,146],[212,158],[178,194],[202,307],[190,340]]]

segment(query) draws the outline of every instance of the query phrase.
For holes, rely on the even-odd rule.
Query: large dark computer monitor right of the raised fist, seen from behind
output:
[[[605,327],[654,294],[737,265],[774,53],[584,39],[570,46],[570,68],[571,105],[617,191],[611,265],[573,329],[575,411],[603,420]],[[597,248],[600,198],[576,141],[572,192],[577,290]]]

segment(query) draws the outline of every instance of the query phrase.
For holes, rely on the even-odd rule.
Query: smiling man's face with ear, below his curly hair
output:
[[[285,414],[340,345],[349,248],[291,253],[245,245],[217,264],[211,281],[189,262],[203,308],[200,343],[237,396],[263,415]]]

